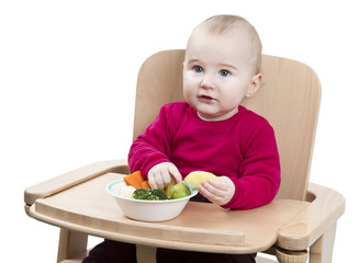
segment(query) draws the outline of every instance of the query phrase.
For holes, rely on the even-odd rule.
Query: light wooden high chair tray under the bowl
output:
[[[122,176],[104,173],[37,198],[27,213],[61,228],[112,240],[192,251],[253,253],[272,247],[281,226],[308,205],[278,199],[256,209],[226,210],[214,204],[189,202],[172,220],[136,221],[125,217],[105,192],[108,183]]]

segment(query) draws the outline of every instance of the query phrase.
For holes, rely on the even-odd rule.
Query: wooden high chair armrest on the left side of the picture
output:
[[[25,206],[33,205],[37,198],[51,196],[108,172],[127,174],[130,172],[127,160],[109,160],[94,162],[40,184],[33,185],[25,190]]]

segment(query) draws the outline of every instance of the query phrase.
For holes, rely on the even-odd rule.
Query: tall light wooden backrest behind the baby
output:
[[[142,66],[136,92],[134,139],[155,119],[165,103],[183,101],[184,50],[166,50]],[[262,85],[243,105],[273,126],[281,161],[277,198],[305,199],[321,101],[321,83],[306,65],[262,56]]]

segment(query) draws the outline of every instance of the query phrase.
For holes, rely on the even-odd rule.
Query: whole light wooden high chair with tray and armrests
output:
[[[137,81],[134,138],[162,104],[183,100],[183,58],[184,50],[167,50],[144,62]],[[345,199],[333,190],[308,183],[321,98],[318,78],[301,62],[266,55],[262,75],[261,89],[243,104],[266,117],[276,132],[282,183],[272,203],[237,211],[190,202],[172,220],[135,221],[124,217],[104,191],[106,183],[128,173],[126,161],[89,164],[25,191],[27,215],[60,228],[57,262],[81,262],[88,235],[136,243],[139,262],[155,262],[156,247],[276,253],[279,262],[306,262],[310,255],[311,263],[332,262]]]

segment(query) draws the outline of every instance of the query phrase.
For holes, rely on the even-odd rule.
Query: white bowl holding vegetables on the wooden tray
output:
[[[120,179],[109,183],[105,190],[115,198],[126,217],[141,221],[165,221],[173,219],[183,210],[189,199],[198,194],[197,190],[191,190],[191,195],[178,199],[132,199],[119,196],[121,188],[125,185],[123,179]]]

